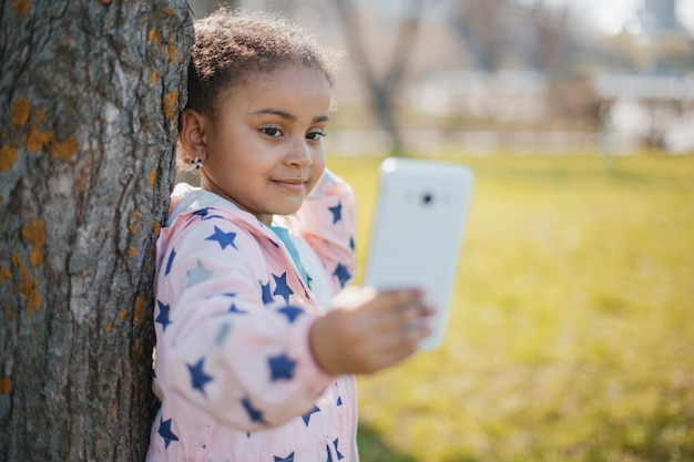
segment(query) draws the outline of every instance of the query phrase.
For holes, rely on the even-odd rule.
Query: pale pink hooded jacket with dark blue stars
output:
[[[306,281],[255,216],[210,192],[174,191],[157,242],[161,408],[147,461],[358,461],[354,378],[327,376],[308,345],[354,274],[351,188],[326,171],[288,222]]]

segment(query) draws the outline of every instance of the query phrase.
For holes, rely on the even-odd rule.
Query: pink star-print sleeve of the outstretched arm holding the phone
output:
[[[308,412],[334,379],[310,352],[315,316],[283,298],[282,275],[247,232],[214,216],[188,219],[171,242],[160,238],[155,390],[242,431]]]

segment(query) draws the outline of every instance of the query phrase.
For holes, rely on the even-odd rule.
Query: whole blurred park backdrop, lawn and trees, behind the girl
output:
[[[694,461],[692,2],[239,3],[346,52],[361,268],[385,156],[476,174],[446,342],[359,379],[363,460]]]

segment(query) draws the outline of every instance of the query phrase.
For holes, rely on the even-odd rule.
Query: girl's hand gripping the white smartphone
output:
[[[371,373],[411,356],[431,333],[423,320],[433,309],[422,298],[416,289],[343,290],[333,300],[333,310],[312,328],[316,362],[334,376]]]

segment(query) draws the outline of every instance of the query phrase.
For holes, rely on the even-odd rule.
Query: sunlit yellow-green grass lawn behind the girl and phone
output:
[[[477,182],[447,339],[359,379],[361,459],[694,461],[694,157],[451,160]],[[379,161],[329,158],[361,266]]]

